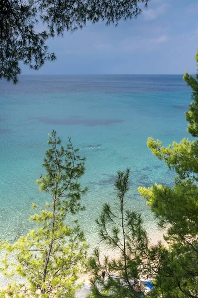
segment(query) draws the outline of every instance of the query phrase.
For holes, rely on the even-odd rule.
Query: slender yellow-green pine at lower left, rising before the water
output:
[[[46,175],[41,175],[37,183],[41,191],[51,196],[51,203],[41,208],[31,220],[37,228],[14,244],[1,243],[5,249],[3,270],[7,277],[16,274],[25,278],[24,283],[12,283],[16,298],[74,298],[81,284],[77,284],[78,274],[85,270],[87,245],[83,232],[75,220],[67,226],[67,215],[84,208],[80,204],[82,189],[79,178],[84,174],[84,158],[69,144],[65,149],[56,132],[49,135],[43,166]],[[37,208],[35,204],[33,208]],[[10,261],[12,256],[13,262]],[[6,290],[0,291],[5,297]]]

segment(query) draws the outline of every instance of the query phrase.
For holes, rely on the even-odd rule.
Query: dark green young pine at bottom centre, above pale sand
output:
[[[167,252],[160,243],[156,247],[148,247],[141,215],[126,208],[128,183],[129,169],[118,172],[115,204],[113,207],[104,204],[96,221],[100,242],[110,251],[103,256],[99,248],[95,248],[90,258],[93,275],[90,297],[93,298],[141,297],[142,280],[146,275],[156,275],[160,267],[159,253]],[[111,252],[115,252],[115,258],[110,257]]]

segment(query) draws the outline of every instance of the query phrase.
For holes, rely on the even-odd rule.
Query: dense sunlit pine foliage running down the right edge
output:
[[[196,54],[198,62],[198,54]],[[192,88],[192,103],[186,112],[188,132],[198,136],[198,74],[187,72],[184,80]],[[155,280],[152,297],[198,297],[198,140],[183,139],[168,147],[148,138],[148,148],[170,169],[175,170],[174,187],[153,185],[139,188],[165,229],[168,255]],[[160,294],[159,294],[160,293]],[[157,296],[158,295],[158,296]]]

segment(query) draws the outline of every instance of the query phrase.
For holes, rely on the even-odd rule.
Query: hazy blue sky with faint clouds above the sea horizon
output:
[[[196,73],[198,0],[151,0],[137,19],[88,23],[47,41],[57,60],[23,74]]]

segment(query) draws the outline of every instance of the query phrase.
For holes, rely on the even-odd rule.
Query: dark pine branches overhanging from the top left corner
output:
[[[64,31],[83,28],[87,21],[118,24],[137,17],[140,3],[149,0],[2,0],[0,4],[0,79],[17,83],[20,61],[38,70],[45,61],[56,59],[46,40]],[[39,18],[40,16],[40,23]],[[36,25],[46,30],[36,32]]]

